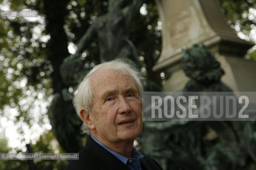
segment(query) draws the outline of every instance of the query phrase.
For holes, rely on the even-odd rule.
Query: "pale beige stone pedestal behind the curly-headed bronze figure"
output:
[[[244,55],[253,46],[236,36],[216,0],[156,0],[162,21],[162,52],[154,66],[171,74],[165,91],[183,88],[188,78],[181,69],[181,49],[204,44],[221,63],[222,81],[234,91],[256,91],[256,62]]]

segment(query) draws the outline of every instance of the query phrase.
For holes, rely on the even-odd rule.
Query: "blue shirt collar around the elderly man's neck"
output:
[[[127,158],[127,157],[117,153],[116,151],[106,147],[105,145],[103,145],[98,139],[93,137],[93,135],[90,135],[90,136],[96,143],[98,143],[101,147],[105,148],[107,151],[109,151],[111,154],[113,154],[116,158],[121,160],[121,162],[124,163],[125,165],[127,164],[128,160],[139,160],[144,157],[138,150],[136,150],[135,148],[132,148],[132,158]]]

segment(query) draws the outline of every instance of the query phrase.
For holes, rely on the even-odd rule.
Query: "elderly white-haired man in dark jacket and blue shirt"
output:
[[[140,73],[122,61],[95,66],[79,84],[74,105],[90,134],[66,169],[162,169],[133,142],[142,130]]]

